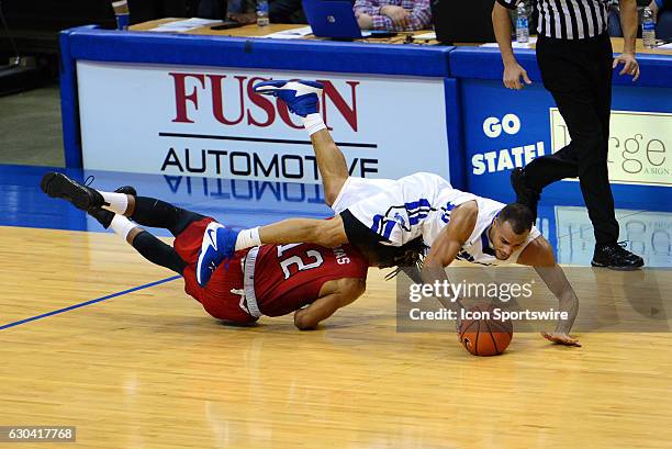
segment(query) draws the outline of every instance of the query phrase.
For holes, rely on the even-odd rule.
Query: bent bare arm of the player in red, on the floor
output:
[[[301,330],[314,329],[321,321],[361,296],[365,290],[363,279],[344,278],[326,282],[314,303],[294,312],[294,326]]]

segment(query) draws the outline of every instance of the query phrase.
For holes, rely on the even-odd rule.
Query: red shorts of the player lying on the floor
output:
[[[244,308],[245,304],[243,302],[242,260],[247,255],[247,250],[237,251],[228,262],[222,263],[205,288],[201,288],[197,282],[195,266],[199,260],[203,234],[212,222],[216,221],[205,217],[191,223],[172,243],[176,252],[187,262],[183,272],[184,291],[200,302],[205,312],[215,318],[235,323],[256,322],[257,318]]]

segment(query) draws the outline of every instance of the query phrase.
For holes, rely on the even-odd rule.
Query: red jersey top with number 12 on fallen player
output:
[[[368,260],[349,245],[264,245],[255,265],[257,304],[264,315],[285,315],[317,300],[325,282],[366,279],[368,268]]]

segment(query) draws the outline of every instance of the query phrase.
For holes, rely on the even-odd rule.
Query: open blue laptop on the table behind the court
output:
[[[362,33],[349,0],[303,0],[303,11],[317,37],[361,38]]]

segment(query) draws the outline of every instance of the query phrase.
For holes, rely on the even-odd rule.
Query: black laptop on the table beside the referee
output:
[[[443,44],[495,42],[492,29],[494,0],[432,0],[432,22]]]

